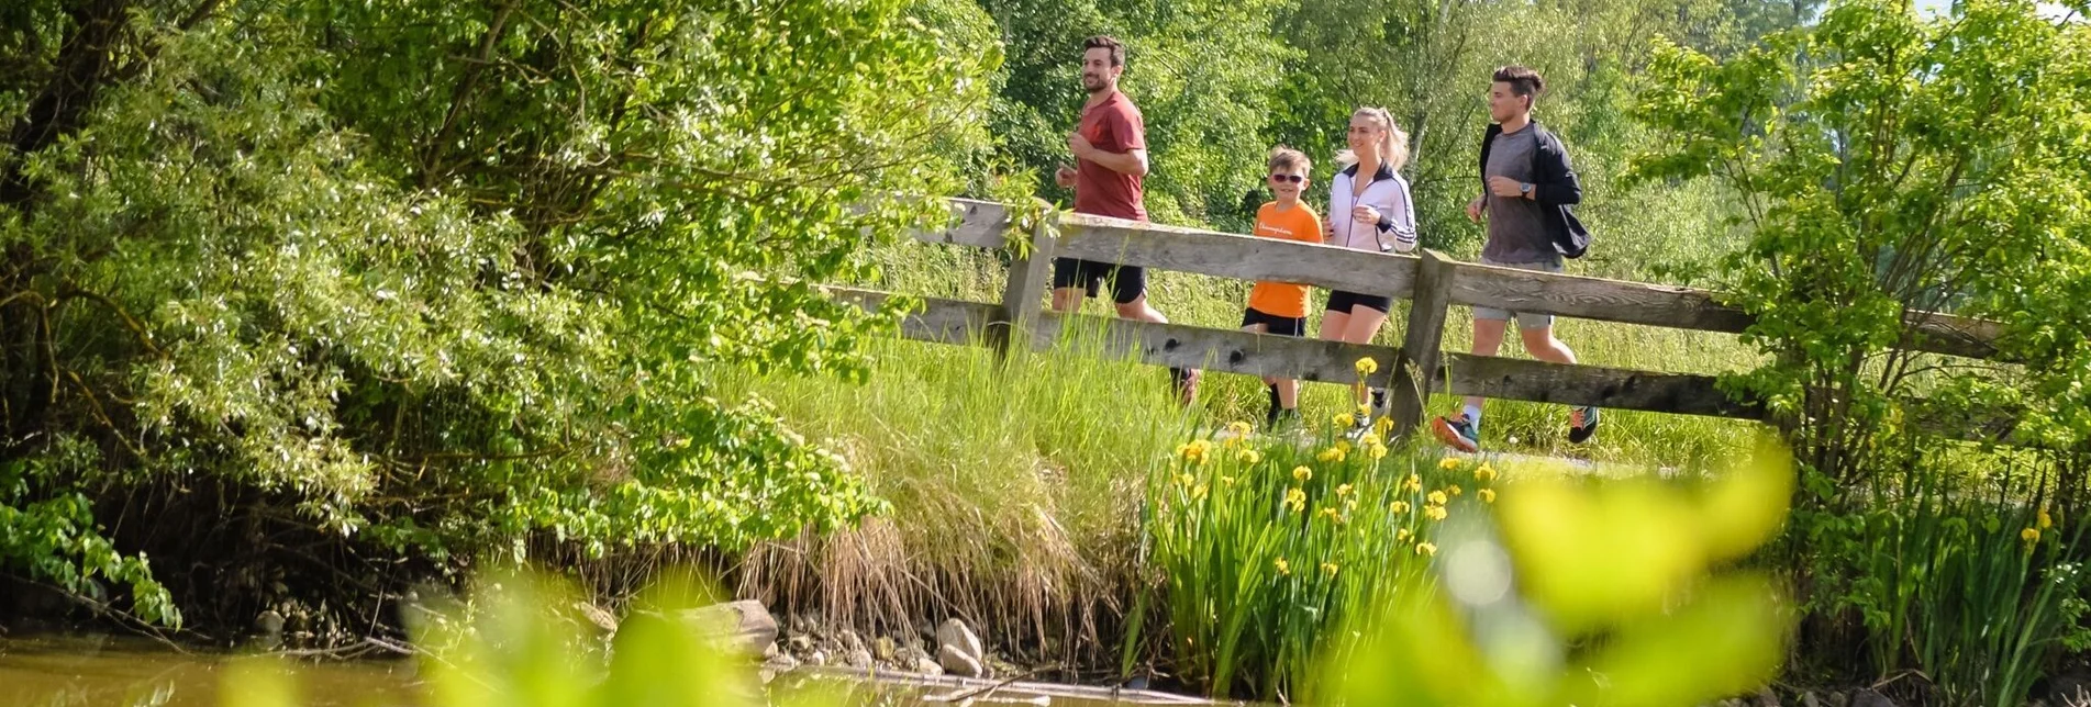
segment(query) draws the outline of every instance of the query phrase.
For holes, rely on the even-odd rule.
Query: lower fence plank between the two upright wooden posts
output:
[[[1397,351],[1382,345],[1359,345],[1322,339],[1257,335],[1234,328],[1186,324],[1154,324],[1133,320],[1100,320],[1096,316],[1041,314],[1033,347],[1052,347],[1062,330],[1075,337],[1102,330],[1104,351],[1125,351],[1146,364],[1186,366],[1240,372],[1250,377],[1288,377],[1319,383],[1357,383],[1357,360],[1372,358],[1380,370],[1365,385],[1386,385]]]

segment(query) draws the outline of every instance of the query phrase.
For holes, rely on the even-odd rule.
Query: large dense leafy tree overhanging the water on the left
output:
[[[293,556],[734,548],[878,508],[707,372],[861,377],[891,326],[815,282],[935,211],[882,195],[956,190],[939,149],[981,142],[997,56],[912,13],[10,4],[0,512],[125,519],[115,548],[245,621]],[[0,535],[0,567],[107,550]]]

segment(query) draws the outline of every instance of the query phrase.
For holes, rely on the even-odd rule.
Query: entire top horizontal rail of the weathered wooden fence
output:
[[[999,203],[951,199],[953,224],[920,232],[926,243],[1002,247],[1008,209]],[[1255,238],[1198,228],[1161,226],[1062,213],[1054,255],[1125,266],[1192,272],[1236,280],[1303,282],[1372,295],[1414,297],[1418,257],[1365,253],[1342,247]],[[1583,320],[1646,324],[1708,333],[1742,333],[1748,312],[1723,305],[1713,291],[1533,272],[1480,264],[1453,264],[1449,301],[1554,314]],[[2003,324],[1951,314],[1913,312],[1913,347],[1926,354],[1995,358],[1991,343]]]

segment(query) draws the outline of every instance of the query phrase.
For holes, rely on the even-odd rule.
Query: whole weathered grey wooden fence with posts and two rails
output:
[[[949,201],[956,222],[941,232],[920,232],[926,243],[1002,249],[1010,211],[987,201]],[[1353,383],[1355,362],[1378,362],[1365,383],[1388,387],[1388,408],[1399,435],[1422,423],[1430,393],[1526,400],[1610,410],[1650,410],[1763,420],[1765,410],[1750,400],[1731,400],[1715,387],[1715,377],[1627,370],[1583,364],[1549,364],[1439,349],[1451,305],[1556,314],[1625,324],[1740,333],[1750,326],[1742,310],[1721,305],[1713,293],[1671,284],[1623,282],[1493,268],[1422,255],[1365,253],[1330,245],[1238,236],[1225,232],[1127,222],[1087,213],[1062,213],[1058,236],[1043,228],[1031,236],[1029,253],[1012,257],[999,303],[922,297],[901,335],[918,341],[981,343],[1008,354],[1014,345],[1050,347],[1060,330],[1083,316],[1048,312],[1043,305],[1054,257],[1079,257],[1144,266],[1150,270],[1196,272],[1238,280],[1305,282],[1353,293],[1393,295],[1409,301],[1401,347],[1353,345],[1319,339],[1255,335],[1238,328],[1152,324],[1133,320],[1096,322],[1110,351],[1131,351],[1158,366],[1190,366],[1240,374],[1284,374],[1303,381]],[[838,299],[880,307],[891,293],[830,287]],[[2001,326],[1949,314],[1915,314],[1915,349],[1963,358],[1993,358]],[[1430,370],[1430,377],[1420,372]],[[2007,429],[1953,429],[1966,439],[2003,439]]]

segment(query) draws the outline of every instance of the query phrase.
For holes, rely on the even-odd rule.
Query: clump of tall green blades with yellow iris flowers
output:
[[[1353,446],[1338,437],[1347,420],[1317,427],[1194,439],[1148,485],[1165,655],[1209,694],[1311,701],[1315,665],[1355,648],[1342,628],[1430,590],[1449,504],[1493,502],[1493,469]]]

